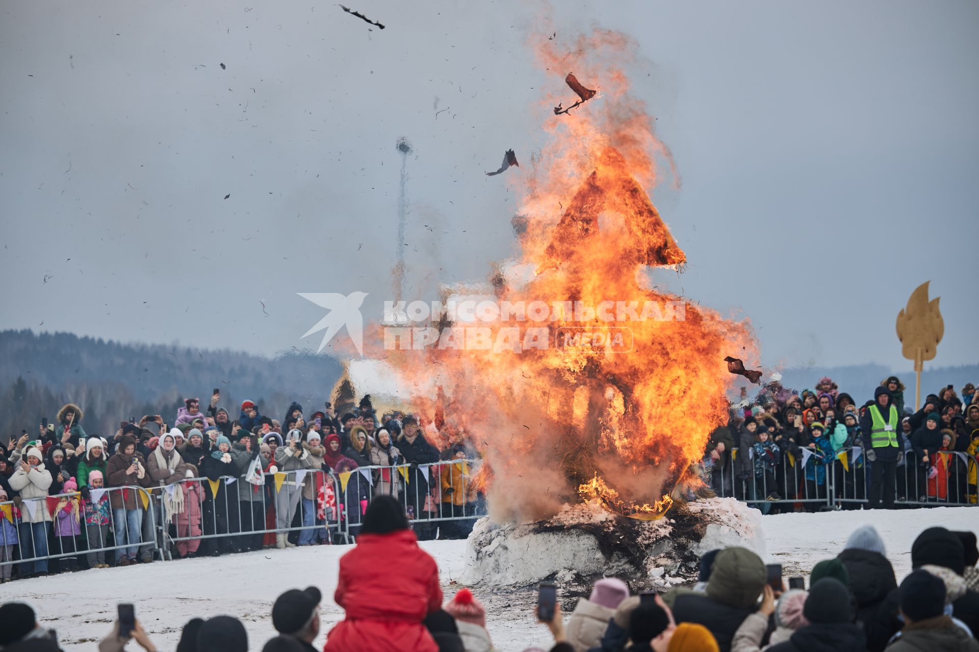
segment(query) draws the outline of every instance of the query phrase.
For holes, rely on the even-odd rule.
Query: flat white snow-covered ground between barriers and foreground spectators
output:
[[[785,576],[808,575],[820,559],[835,556],[847,536],[870,523],[887,542],[887,556],[899,580],[910,569],[910,544],[925,528],[943,525],[979,534],[979,509],[940,507],[896,511],[843,511],[779,514],[762,517],[768,561],[783,565]],[[465,542],[424,542],[439,562],[446,598],[458,587],[465,566]],[[136,617],[157,645],[172,650],[184,623],[195,616],[230,614],[249,631],[251,649],[259,650],[274,634],[270,612],[275,597],[291,587],[320,587],[328,596],[322,605],[323,630],[343,618],[332,600],[338,559],[348,546],[315,546],[265,550],[185,561],[155,562],[127,568],[91,570],[14,582],[0,587],[0,601],[30,603],[46,627],[58,630],[69,651],[94,650],[116,619],[118,602],[133,602]],[[391,560],[396,569],[396,560]],[[379,572],[385,572],[379,566]],[[534,622],[533,588],[496,595],[476,593],[488,605],[489,633],[502,651],[543,645],[547,632]],[[574,607],[566,600],[565,610]],[[325,636],[316,641],[321,648]]]

